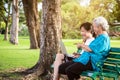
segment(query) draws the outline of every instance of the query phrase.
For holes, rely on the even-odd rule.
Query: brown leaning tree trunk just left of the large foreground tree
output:
[[[22,0],[28,31],[30,34],[30,48],[40,47],[40,20],[37,9],[37,0]]]

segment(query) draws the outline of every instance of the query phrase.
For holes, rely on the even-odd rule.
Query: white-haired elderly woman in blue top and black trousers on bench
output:
[[[93,20],[93,29],[97,35],[89,46],[78,44],[78,48],[84,49],[82,55],[71,62],[59,66],[59,74],[66,74],[69,80],[80,78],[80,74],[86,70],[99,71],[97,63],[103,65],[103,61],[109,54],[110,38],[107,34],[108,22],[104,17],[97,17]]]

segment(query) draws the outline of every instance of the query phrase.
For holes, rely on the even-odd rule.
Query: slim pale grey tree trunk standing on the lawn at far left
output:
[[[18,22],[19,22],[18,0],[13,0],[12,2],[12,26],[10,30],[10,42],[12,44],[18,44]]]

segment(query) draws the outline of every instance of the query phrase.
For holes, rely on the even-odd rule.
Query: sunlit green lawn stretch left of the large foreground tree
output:
[[[0,37],[0,71],[35,65],[39,58],[39,49],[29,49],[29,38],[20,37],[18,45],[2,39]]]

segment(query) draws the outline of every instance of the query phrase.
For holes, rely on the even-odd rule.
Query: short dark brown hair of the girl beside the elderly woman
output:
[[[92,24],[91,24],[90,22],[85,22],[85,23],[81,24],[81,25],[80,25],[80,29],[81,29],[82,27],[83,27],[85,30],[90,31],[90,32],[92,33],[93,37],[96,37],[95,32],[94,32],[94,30],[93,30],[93,26],[92,26]]]

